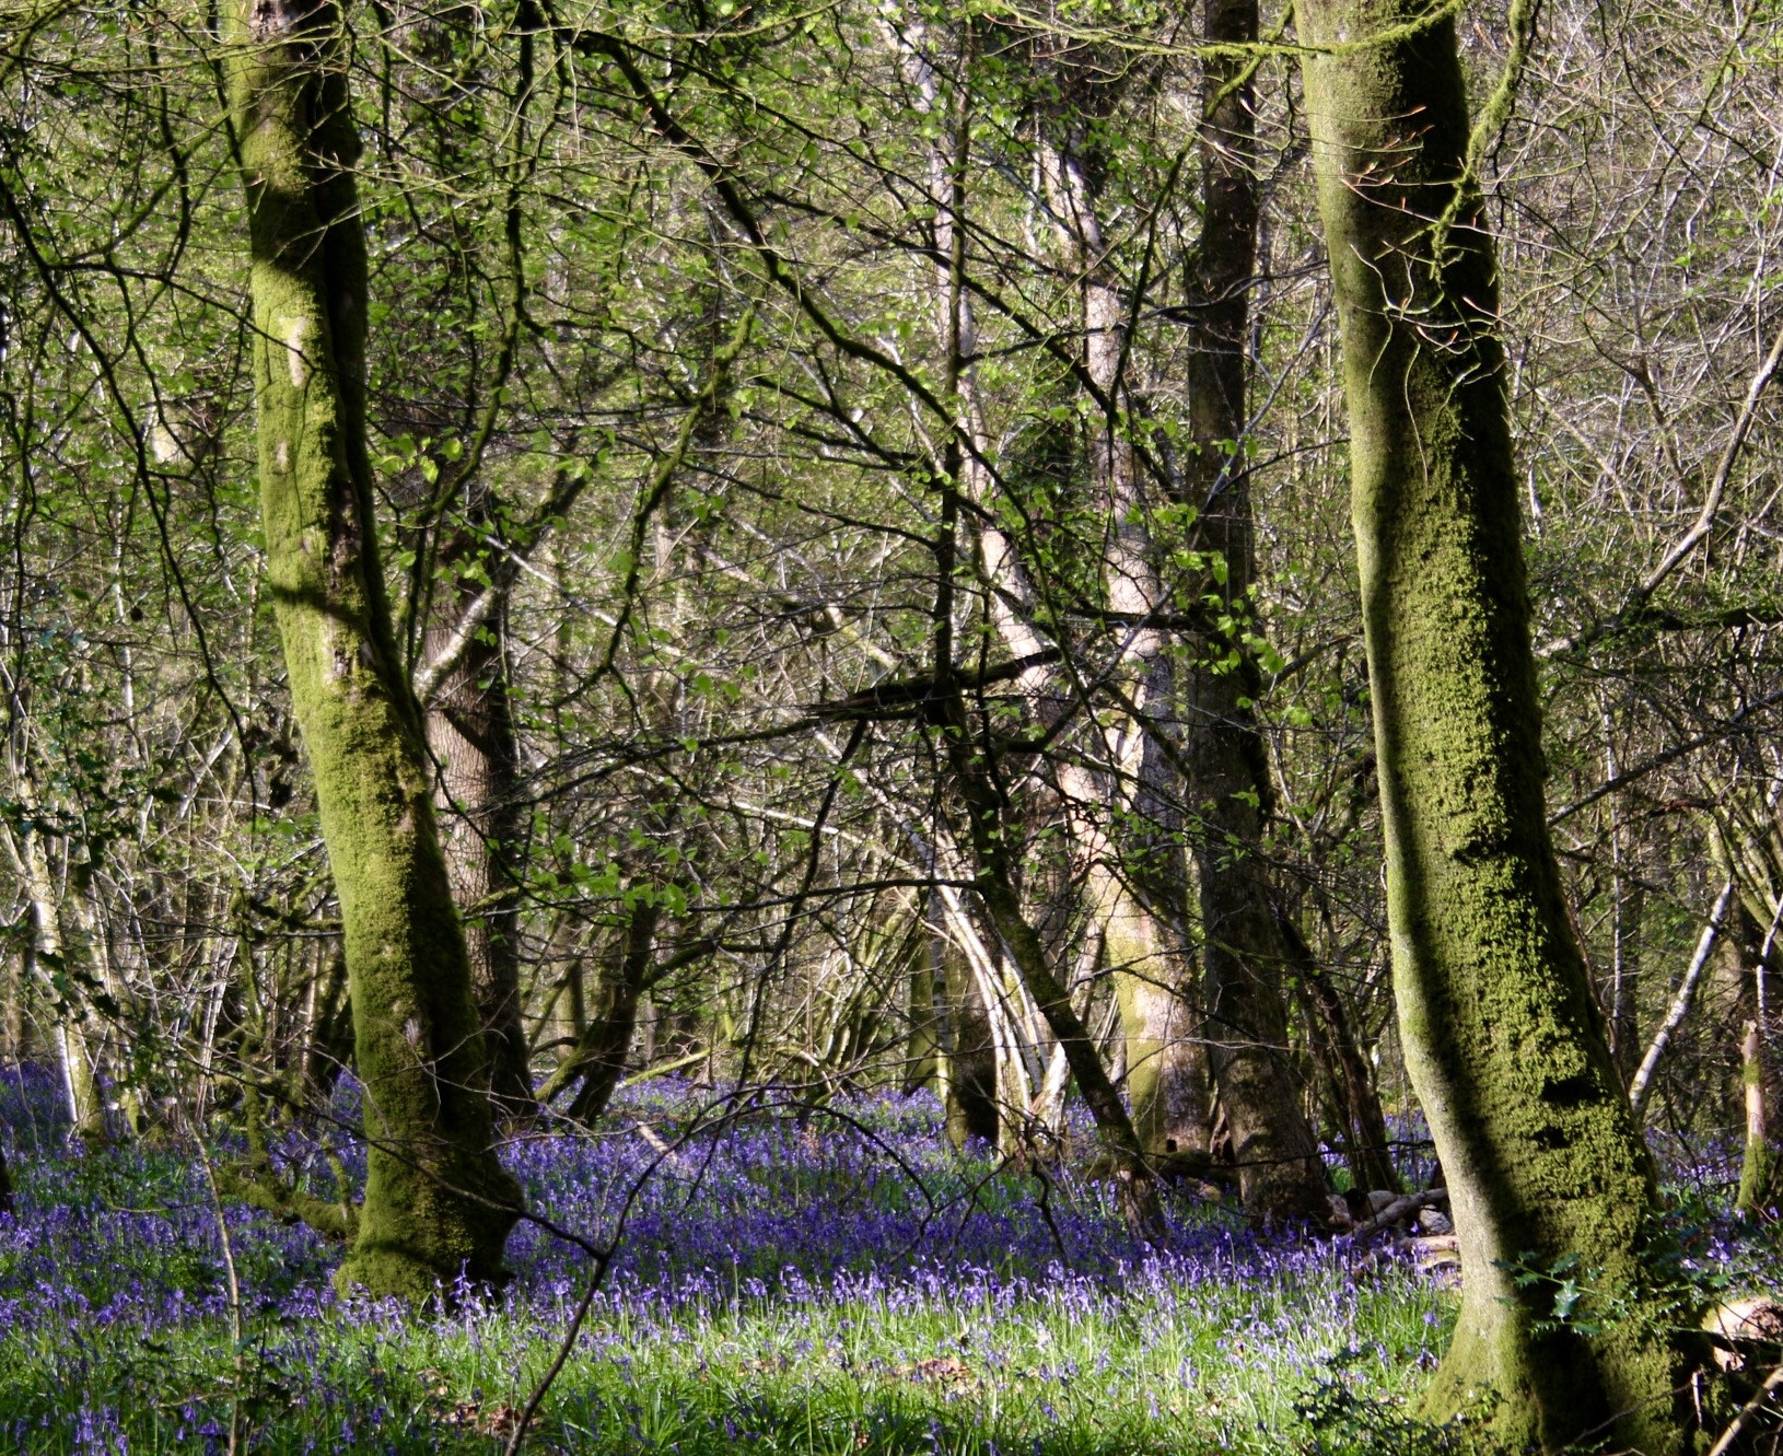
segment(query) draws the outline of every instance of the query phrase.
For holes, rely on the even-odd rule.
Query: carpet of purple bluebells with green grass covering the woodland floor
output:
[[[77,1155],[52,1080],[0,1078],[0,1452],[505,1445],[581,1249],[521,1224],[497,1297],[342,1301],[339,1251],[303,1228],[223,1207],[225,1253],[193,1149]],[[330,1190],[314,1142],[280,1151]],[[533,1452],[1362,1451],[1405,1420],[1455,1303],[1389,1253],[1187,1196],[1146,1246],[1100,1185],[956,1153],[929,1096],[645,1084],[599,1135],[505,1157],[560,1228],[601,1242],[624,1212]]]

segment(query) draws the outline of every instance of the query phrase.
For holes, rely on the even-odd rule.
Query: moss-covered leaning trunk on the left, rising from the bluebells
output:
[[[367,1178],[342,1287],[501,1276],[519,1187],[490,1148],[483,1037],[383,593],[366,444],[366,239],[335,4],[251,0],[230,114],[251,235],[267,579],[341,896]]]

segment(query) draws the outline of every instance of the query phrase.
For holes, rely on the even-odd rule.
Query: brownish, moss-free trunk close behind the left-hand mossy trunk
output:
[[[456,552],[444,570],[456,576]],[[455,581],[449,609],[428,633],[439,652],[456,636],[464,609],[481,593],[474,579]],[[508,704],[501,642],[505,613],[476,633],[458,665],[426,704],[428,748],[439,763],[437,804],[444,814],[442,845],[453,898],[464,916],[471,957],[471,994],[483,1023],[489,1091],[505,1117],[526,1119],[533,1100],[530,1048],[521,1025],[521,918],[517,850],[522,816],[515,807],[521,747]]]

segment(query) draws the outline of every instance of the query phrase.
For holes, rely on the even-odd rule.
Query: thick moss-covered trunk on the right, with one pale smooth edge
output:
[[[1655,1167],[1546,829],[1496,260],[1466,176],[1455,23],[1421,0],[1296,14],[1344,344],[1400,1030],[1466,1271],[1425,1410],[1485,1411],[1508,1449],[1676,1452],[1689,1383],[1642,1292]],[[1553,1319],[1542,1278],[1565,1260],[1590,1271],[1576,1322]]]

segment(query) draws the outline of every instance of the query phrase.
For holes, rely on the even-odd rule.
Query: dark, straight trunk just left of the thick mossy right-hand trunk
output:
[[[1257,39],[1255,0],[1205,0],[1205,39],[1245,46]],[[1202,100],[1202,244],[1195,273],[1189,353],[1191,504],[1205,544],[1225,556],[1225,597],[1250,608],[1257,576],[1245,438],[1250,280],[1257,258],[1255,114],[1248,62],[1211,57]],[[1205,643],[1186,674],[1189,806],[1200,816],[1198,866],[1207,1041],[1214,1085],[1232,1133],[1246,1208],[1323,1219],[1325,1166],[1300,1110],[1287,1059],[1282,994],[1287,948],[1277,925],[1262,859],[1273,793],[1250,704],[1261,693],[1257,665],[1232,643]]]

